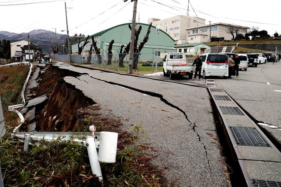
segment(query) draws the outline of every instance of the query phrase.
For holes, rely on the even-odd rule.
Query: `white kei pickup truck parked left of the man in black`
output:
[[[192,78],[194,67],[192,64],[186,63],[184,53],[168,53],[163,59],[163,73],[164,76],[170,76],[174,79],[177,75],[186,75]]]

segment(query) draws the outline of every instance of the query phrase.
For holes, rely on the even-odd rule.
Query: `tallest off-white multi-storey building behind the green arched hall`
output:
[[[185,43],[187,33],[186,28],[205,25],[205,19],[184,15],[178,15],[163,20],[149,18],[148,24],[151,22],[152,26],[158,26],[162,31],[169,34],[175,40],[175,44]]]

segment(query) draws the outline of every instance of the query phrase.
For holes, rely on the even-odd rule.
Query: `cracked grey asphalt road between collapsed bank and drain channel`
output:
[[[146,133],[141,142],[153,148],[147,156],[155,156],[150,162],[167,179],[167,186],[228,185],[207,89],[56,66],[84,73],[64,80],[98,103],[106,115],[123,119],[122,130],[141,124]]]

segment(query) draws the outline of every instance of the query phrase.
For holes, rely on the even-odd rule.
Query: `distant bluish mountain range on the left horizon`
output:
[[[42,48],[43,54],[50,54],[52,52],[51,43],[57,43],[60,46],[65,45],[67,34],[55,34],[52,31],[33,30],[28,32],[30,35],[30,42]],[[0,40],[10,40],[10,42],[26,40],[28,41],[28,33],[14,33],[8,31],[0,31]],[[57,36],[57,39],[55,38]]]

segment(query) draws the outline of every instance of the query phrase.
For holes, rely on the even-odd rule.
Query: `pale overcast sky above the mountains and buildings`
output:
[[[57,33],[66,34],[65,2],[70,36],[91,35],[132,20],[131,0],[0,0],[0,31],[21,33],[56,28]],[[195,12],[189,5],[189,15],[206,19],[206,24],[211,21],[254,26],[270,35],[276,31],[281,34],[281,0],[190,0],[190,3]],[[152,17],[187,15],[187,4],[188,0],[138,0],[137,21],[147,24]]]

